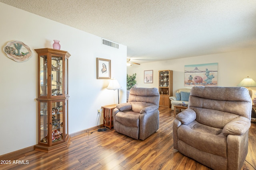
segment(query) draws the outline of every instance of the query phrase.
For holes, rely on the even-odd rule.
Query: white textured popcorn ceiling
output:
[[[256,48],[256,0],[0,0],[127,46],[132,62]]]

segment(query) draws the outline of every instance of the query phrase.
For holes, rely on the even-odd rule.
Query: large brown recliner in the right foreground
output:
[[[188,109],[174,119],[174,149],[215,170],[240,170],[251,110],[244,87],[193,87]]]

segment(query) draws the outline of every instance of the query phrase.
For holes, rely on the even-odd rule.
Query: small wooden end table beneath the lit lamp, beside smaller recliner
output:
[[[108,106],[102,106],[103,108],[103,125],[108,127],[110,130],[112,127],[114,127],[114,118],[113,118],[113,110],[116,108],[116,104],[108,105]]]

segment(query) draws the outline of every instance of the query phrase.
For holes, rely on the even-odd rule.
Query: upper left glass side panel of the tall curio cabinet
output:
[[[39,56],[40,62],[40,96],[47,96],[47,55]]]

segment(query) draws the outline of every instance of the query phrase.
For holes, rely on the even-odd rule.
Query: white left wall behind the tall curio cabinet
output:
[[[107,90],[109,80],[96,79],[96,57],[111,60],[112,78],[122,86],[126,102],[126,53],[101,45],[101,37],[48,20],[0,2],[0,155],[36,145],[37,55],[34,49],[52,48],[60,40],[69,59],[69,133],[96,126],[97,109],[118,103],[117,91]],[[18,63],[3,51],[10,41],[22,41],[32,57]],[[102,124],[102,118],[98,124]]]

